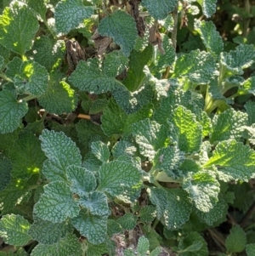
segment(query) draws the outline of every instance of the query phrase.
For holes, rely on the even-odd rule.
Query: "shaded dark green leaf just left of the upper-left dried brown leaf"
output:
[[[52,38],[45,36],[37,37],[31,49],[34,60],[45,66],[48,71],[51,71],[54,65],[59,65],[65,55],[65,43],[63,40],[54,41]]]

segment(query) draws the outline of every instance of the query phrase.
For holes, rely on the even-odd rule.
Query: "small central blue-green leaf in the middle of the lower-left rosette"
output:
[[[79,196],[94,191],[97,185],[94,174],[80,166],[71,165],[67,167],[66,177],[71,181],[71,191]]]

